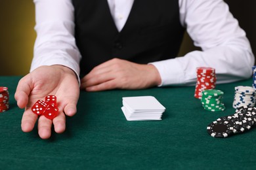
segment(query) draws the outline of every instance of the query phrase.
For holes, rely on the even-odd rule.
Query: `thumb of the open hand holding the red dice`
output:
[[[24,76],[19,82],[14,94],[18,107],[23,109],[28,104],[28,96],[32,91],[32,82],[28,76]]]

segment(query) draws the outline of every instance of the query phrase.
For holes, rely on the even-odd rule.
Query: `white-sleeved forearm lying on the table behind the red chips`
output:
[[[232,46],[217,46],[204,52],[194,51],[186,56],[152,63],[161,76],[161,86],[196,84],[196,67],[213,67],[217,83],[249,78],[254,63],[249,50]]]

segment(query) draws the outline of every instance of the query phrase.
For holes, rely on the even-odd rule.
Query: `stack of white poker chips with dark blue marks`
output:
[[[251,86],[236,86],[233,107],[237,109],[242,106],[255,106],[256,89]]]

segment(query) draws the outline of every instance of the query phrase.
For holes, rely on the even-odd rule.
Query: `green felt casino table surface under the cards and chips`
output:
[[[0,76],[10,92],[10,109],[0,113],[1,169],[255,169],[256,128],[226,138],[211,137],[209,123],[234,114],[235,86],[218,84],[223,112],[204,110],[194,86],[81,92],[77,114],[66,131],[40,139],[37,127],[20,129],[23,109],[14,100],[20,76]],[[125,119],[122,97],[152,95],[166,108],[161,121]],[[57,96],[58,97],[58,96]]]

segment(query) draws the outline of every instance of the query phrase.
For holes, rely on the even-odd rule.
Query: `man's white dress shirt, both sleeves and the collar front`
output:
[[[108,0],[119,31],[134,0]],[[30,71],[41,65],[65,65],[79,75],[81,54],[74,38],[72,0],[34,0],[37,39]],[[196,67],[213,67],[217,83],[242,80],[251,76],[254,56],[238,21],[223,0],[179,0],[182,26],[202,51],[156,61],[161,85],[195,84]],[[81,68],[83,69],[83,68]]]

